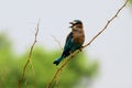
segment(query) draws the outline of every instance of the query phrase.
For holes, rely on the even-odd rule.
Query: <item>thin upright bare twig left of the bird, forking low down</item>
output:
[[[31,56],[32,56],[32,52],[33,52],[34,45],[35,45],[36,42],[37,42],[38,24],[40,24],[40,21],[37,22],[34,42],[33,42],[33,44],[32,44],[32,46],[31,46],[28,61],[26,61],[26,63],[25,63],[25,65],[24,65],[24,67],[23,67],[23,72],[22,72],[22,75],[21,75],[21,77],[20,77],[20,80],[19,80],[19,84],[18,84],[18,88],[20,88],[20,85],[21,85],[21,82],[22,82],[22,80],[23,80],[23,77],[24,77],[24,74],[25,74],[25,70],[26,70],[26,67],[28,67],[29,63],[31,63],[31,67],[32,67],[32,70],[33,70],[33,75],[34,75],[34,77],[35,77],[35,73],[34,73],[34,68],[33,68],[33,65],[32,65]]]

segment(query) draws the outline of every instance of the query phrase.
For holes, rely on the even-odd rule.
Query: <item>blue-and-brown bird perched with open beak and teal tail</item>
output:
[[[72,32],[67,35],[62,55],[54,61],[56,66],[75,51],[79,50],[85,41],[84,25],[80,20],[69,22]]]

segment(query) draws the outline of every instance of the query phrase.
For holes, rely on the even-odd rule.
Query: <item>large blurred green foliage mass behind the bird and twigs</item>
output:
[[[16,88],[22,74],[23,66],[28,61],[30,52],[16,56],[12,52],[12,42],[4,34],[0,34],[0,88]],[[21,82],[21,88],[44,88],[53,77],[56,66],[54,59],[61,55],[61,51],[46,51],[41,46],[35,46],[32,53],[32,63],[35,77],[28,65],[25,76]],[[99,63],[86,56],[85,51],[77,54],[59,75],[57,88],[82,88],[84,85],[92,84],[97,75]],[[82,80],[87,82],[82,82]],[[34,81],[35,80],[35,81]],[[55,87],[55,82],[52,88]]]

